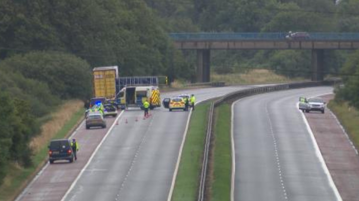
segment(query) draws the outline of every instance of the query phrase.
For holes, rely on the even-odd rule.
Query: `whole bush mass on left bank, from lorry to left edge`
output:
[[[31,52],[0,62],[0,183],[7,163],[30,166],[29,142],[39,134],[38,119],[61,99],[87,98],[91,93],[89,64],[74,55]]]

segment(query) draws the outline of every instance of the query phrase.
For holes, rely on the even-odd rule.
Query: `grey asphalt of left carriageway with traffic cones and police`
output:
[[[162,98],[190,93],[198,102],[241,88],[185,90]],[[188,112],[157,108],[150,114],[143,119],[139,109],[125,111],[64,200],[167,200]]]

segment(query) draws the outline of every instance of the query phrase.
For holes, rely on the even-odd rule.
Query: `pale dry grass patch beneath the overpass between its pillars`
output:
[[[289,79],[283,75],[277,75],[267,69],[253,69],[247,73],[216,74],[211,73],[211,81],[224,81],[226,84],[266,84],[283,83],[301,80],[301,78]],[[303,79],[302,79],[303,80]]]

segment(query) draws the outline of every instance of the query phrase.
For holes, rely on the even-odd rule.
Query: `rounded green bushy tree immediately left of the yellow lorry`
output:
[[[86,98],[91,93],[89,64],[74,55],[31,52],[3,60],[0,68],[46,83],[51,93],[62,99]]]

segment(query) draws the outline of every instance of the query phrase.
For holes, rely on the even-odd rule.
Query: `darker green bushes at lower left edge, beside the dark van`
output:
[[[0,90],[0,184],[6,173],[6,164],[13,161],[21,166],[31,165],[31,150],[27,146],[39,131],[29,104]]]

